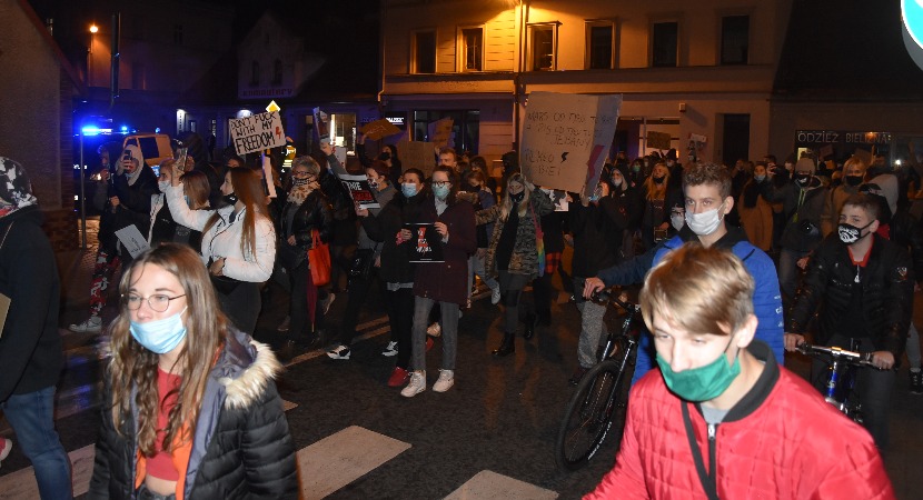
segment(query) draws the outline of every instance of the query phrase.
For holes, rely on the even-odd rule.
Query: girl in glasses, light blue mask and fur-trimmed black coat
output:
[[[196,252],[147,251],[119,291],[88,498],[297,498],[281,366],[230,324]]]

